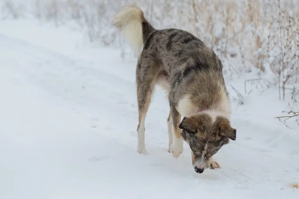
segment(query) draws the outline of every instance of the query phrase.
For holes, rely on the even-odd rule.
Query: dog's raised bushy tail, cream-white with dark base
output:
[[[113,16],[112,23],[124,34],[137,55],[141,53],[150,33],[155,30],[137,6],[121,9]]]

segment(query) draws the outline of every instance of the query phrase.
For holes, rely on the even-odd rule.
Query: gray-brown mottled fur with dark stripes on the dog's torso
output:
[[[156,74],[169,77],[170,106],[176,106],[185,94],[191,94],[194,104],[209,109],[218,102],[219,91],[225,88],[222,64],[216,54],[191,33],[179,29],[148,30],[137,68],[137,81],[147,76],[152,63]],[[166,74],[165,74],[166,72]],[[194,95],[193,95],[194,94]],[[228,94],[227,94],[228,95]]]

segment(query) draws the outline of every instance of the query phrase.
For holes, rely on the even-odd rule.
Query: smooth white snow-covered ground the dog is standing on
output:
[[[276,88],[233,101],[237,140],[216,154],[221,169],[197,174],[186,144],[178,159],[167,152],[159,90],[146,119],[149,154],[136,152],[136,59],[81,37],[0,22],[0,199],[299,198],[289,186],[299,183],[298,127],[274,118],[288,109]],[[243,91],[246,78],[228,85]]]

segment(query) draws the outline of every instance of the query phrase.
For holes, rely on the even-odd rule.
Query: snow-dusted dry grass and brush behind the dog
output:
[[[0,0],[0,16],[76,25],[91,42],[121,47],[126,55],[130,48],[110,18],[134,4],[154,27],[190,31],[212,47],[227,79],[252,73],[254,79],[277,85],[281,100],[298,85],[297,0]]]

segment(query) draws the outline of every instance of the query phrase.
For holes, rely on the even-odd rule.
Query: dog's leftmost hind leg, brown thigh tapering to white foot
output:
[[[137,152],[147,154],[145,145],[145,119],[149,109],[154,81],[157,76],[155,64],[142,64],[139,62],[136,71],[137,100],[139,112],[139,124],[137,127],[138,146]]]

